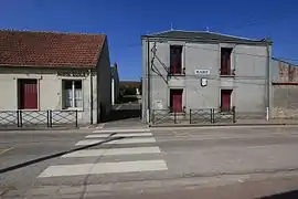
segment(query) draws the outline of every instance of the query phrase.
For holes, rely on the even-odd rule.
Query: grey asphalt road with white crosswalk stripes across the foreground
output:
[[[1,174],[0,196],[254,198],[297,187],[298,127],[132,127],[1,132],[1,168],[88,145],[113,133],[125,138]]]

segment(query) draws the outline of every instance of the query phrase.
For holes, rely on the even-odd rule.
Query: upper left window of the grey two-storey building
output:
[[[170,73],[182,74],[182,45],[170,46]],[[184,73],[184,72],[183,72]]]

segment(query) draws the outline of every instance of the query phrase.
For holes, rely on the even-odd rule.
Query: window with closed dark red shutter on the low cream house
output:
[[[18,108],[38,109],[38,80],[18,80]]]

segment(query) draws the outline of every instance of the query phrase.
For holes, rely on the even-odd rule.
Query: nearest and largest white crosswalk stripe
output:
[[[39,178],[57,176],[99,175],[117,172],[139,172],[167,170],[164,160],[141,160],[123,163],[99,163],[82,165],[62,165],[47,167]]]

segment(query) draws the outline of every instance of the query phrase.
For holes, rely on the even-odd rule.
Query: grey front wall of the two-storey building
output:
[[[185,67],[185,76],[170,77],[164,81],[152,70],[150,73],[150,107],[157,108],[155,102],[162,104],[162,108],[169,107],[170,88],[183,88],[183,106],[190,108],[220,107],[220,91],[232,88],[232,106],[237,112],[264,112],[269,106],[267,63],[268,52],[264,45],[244,45],[227,43],[187,43],[177,41],[150,42],[150,50],[156,45],[156,59],[153,64],[161,75],[167,80],[167,71],[163,66],[170,65],[170,44],[183,45],[182,67]],[[221,77],[221,48],[233,48],[232,69],[235,69],[235,77]],[[148,91],[148,65],[147,42],[142,41],[142,90]],[[150,52],[149,60],[153,57]],[[207,86],[201,86],[201,77],[195,75],[195,70],[210,70],[206,76]],[[146,118],[148,92],[142,92],[143,112]]]

